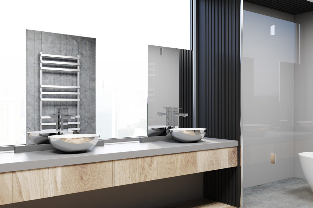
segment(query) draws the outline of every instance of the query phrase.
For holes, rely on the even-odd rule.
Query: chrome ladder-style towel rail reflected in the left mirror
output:
[[[64,61],[50,61],[43,60],[43,57],[52,57],[64,59]],[[75,59],[77,62],[66,62],[67,59]],[[55,68],[55,67],[44,67],[43,64],[58,64],[58,65],[74,65],[77,69],[66,69],[66,68]],[[77,85],[76,86],[64,86],[64,85],[43,85],[43,70],[57,70],[57,71],[74,71],[77,72]],[[49,92],[43,91],[44,88],[67,88],[77,89],[77,92]],[[60,90],[62,91],[62,90]],[[43,98],[43,94],[64,94],[64,95],[77,95],[77,98]],[[43,101],[75,101],[77,102],[77,115],[75,118],[77,122],[68,122],[68,125],[76,124],[77,128],[69,128],[68,130],[80,131],[80,56],[60,56],[52,54],[39,53],[39,128],[43,129],[43,126],[56,125],[55,122],[43,123],[43,119],[52,119],[49,115],[43,115]]]

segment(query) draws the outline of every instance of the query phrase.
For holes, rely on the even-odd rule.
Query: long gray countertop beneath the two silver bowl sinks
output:
[[[90,151],[78,154],[64,154],[57,150],[36,152],[0,152],[0,172],[29,170],[44,167],[74,165],[89,162],[102,162],[135,157],[147,157],[179,152],[237,147],[238,141],[203,138],[197,143],[160,142],[124,142],[107,143],[94,147]]]

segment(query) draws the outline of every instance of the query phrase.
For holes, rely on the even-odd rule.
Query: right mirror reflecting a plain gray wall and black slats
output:
[[[148,136],[192,127],[192,80],[192,51],[148,46]]]

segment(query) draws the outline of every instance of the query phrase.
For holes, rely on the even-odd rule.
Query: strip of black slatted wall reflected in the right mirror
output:
[[[181,113],[187,113],[187,117],[179,116],[179,127],[192,127],[193,117],[193,73],[192,51],[179,49],[179,107]]]

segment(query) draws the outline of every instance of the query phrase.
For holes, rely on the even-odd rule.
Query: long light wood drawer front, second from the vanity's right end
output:
[[[196,173],[196,152],[113,161],[113,186]]]

